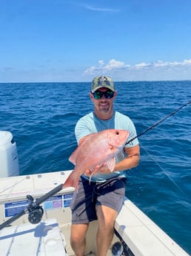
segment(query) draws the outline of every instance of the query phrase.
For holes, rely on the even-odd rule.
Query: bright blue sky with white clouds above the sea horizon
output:
[[[0,82],[191,79],[190,0],[1,0]]]

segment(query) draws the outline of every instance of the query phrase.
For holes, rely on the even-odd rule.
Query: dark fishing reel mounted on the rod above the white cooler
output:
[[[32,224],[37,224],[41,221],[44,210],[42,206],[38,206],[34,203],[34,199],[30,194],[27,194],[27,200],[30,202],[27,206],[28,220]]]

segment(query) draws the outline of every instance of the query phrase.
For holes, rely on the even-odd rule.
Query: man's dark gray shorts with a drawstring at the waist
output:
[[[81,177],[78,193],[74,192],[70,205],[72,223],[97,220],[96,206],[99,205],[108,206],[118,212],[124,200],[126,180],[124,177],[114,177],[104,183],[95,183]]]

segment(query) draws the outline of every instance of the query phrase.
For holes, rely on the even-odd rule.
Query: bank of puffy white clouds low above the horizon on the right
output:
[[[111,59],[104,63],[98,61],[97,66],[92,66],[84,70],[84,76],[99,75],[109,73],[121,79],[132,80],[153,80],[153,79],[191,79],[191,59],[184,59],[182,62],[141,62],[129,65],[124,62]]]

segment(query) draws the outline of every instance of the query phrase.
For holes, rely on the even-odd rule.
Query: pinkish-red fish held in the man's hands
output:
[[[79,142],[78,147],[70,155],[69,161],[75,165],[62,189],[73,187],[78,191],[78,180],[85,171],[95,171],[97,165],[107,163],[110,171],[115,167],[115,156],[124,148],[129,131],[107,129],[88,134]]]

